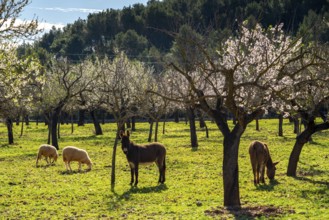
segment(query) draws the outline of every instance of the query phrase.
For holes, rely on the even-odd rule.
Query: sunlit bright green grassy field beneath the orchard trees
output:
[[[93,135],[93,126],[61,126],[60,149],[74,145],[88,151],[91,172],[65,172],[61,158],[53,166],[45,160],[35,166],[47,129],[31,123],[15,143],[7,145],[5,126],[0,125],[0,219],[328,219],[329,218],[329,133],[314,135],[305,145],[298,164],[298,177],[285,175],[295,141],[292,124],[284,121],[284,137],[277,136],[278,120],[260,120],[260,131],[250,124],[239,152],[242,207],[267,207],[256,215],[221,212],[223,205],[222,135],[208,122],[210,137],[198,130],[199,148],[190,148],[189,128],[184,122],[167,123],[159,141],[167,147],[166,184],[157,185],[155,165],[140,167],[138,188],[131,188],[130,170],[121,145],[117,151],[116,186],[111,191],[113,124],[103,125],[104,135]],[[162,129],[160,127],[160,129]],[[135,143],[146,143],[148,124],[137,124]],[[259,187],[253,184],[248,146],[252,140],[268,143],[274,161],[280,161],[276,181]],[[78,164],[72,163],[77,170]],[[83,167],[86,168],[86,167]],[[280,210],[275,214],[267,211]],[[249,217],[248,217],[249,216]]]

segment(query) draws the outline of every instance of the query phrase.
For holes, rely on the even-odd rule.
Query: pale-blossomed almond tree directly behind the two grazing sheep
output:
[[[92,90],[95,78],[94,66],[90,61],[72,64],[65,58],[54,59],[45,70],[39,85],[39,105],[48,119],[51,144],[59,149],[57,126],[59,116],[79,94]]]

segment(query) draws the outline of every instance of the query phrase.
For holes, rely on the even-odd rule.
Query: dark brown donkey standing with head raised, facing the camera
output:
[[[129,131],[120,132],[122,150],[126,154],[130,166],[131,182],[135,186],[138,184],[138,165],[155,162],[159,168],[159,183],[165,182],[166,171],[166,148],[160,143],[151,143],[147,145],[137,145],[129,140]]]

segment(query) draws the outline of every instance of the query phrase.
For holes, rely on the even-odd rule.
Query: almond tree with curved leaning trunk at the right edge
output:
[[[305,130],[297,134],[296,142],[289,157],[288,176],[296,176],[297,164],[303,146],[311,136],[319,131],[329,129],[327,110],[329,106],[329,60],[328,47],[321,45],[320,49],[304,57],[299,63],[288,66],[286,82],[291,86],[280,90],[284,102],[281,109],[299,116],[305,122]],[[312,62],[310,61],[312,60]],[[301,65],[312,63],[312,65]],[[299,69],[297,72],[295,69]],[[294,74],[291,74],[294,73]],[[320,116],[323,122],[316,120]]]

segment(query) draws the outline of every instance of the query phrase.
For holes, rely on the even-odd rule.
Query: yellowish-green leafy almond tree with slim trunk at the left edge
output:
[[[19,108],[29,108],[40,69],[36,58],[19,59],[12,48],[8,43],[0,48],[0,117],[6,119],[9,144],[14,143],[12,119]]]

